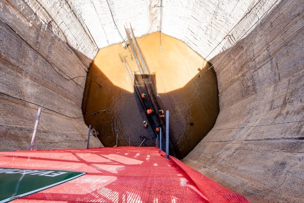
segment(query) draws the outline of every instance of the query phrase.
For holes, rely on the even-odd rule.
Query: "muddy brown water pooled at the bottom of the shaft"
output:
[[[186,156],[211,130],[217,118],[217,81],[212,69],[195,51],[183,42],[155,32],[137,39],[151,75],[156,81],[156,94],[169,110],[169,122],[174,129],[179,157]],[[147,146],[155,146],[152,126],[143,128],[146,110],[134,90],[134,81],[122,63],[125,58],[133,75],[140,76],[138,66],[129,49],[121,44],[99,50],[89,69],[83,112],[87,125],[98,131],[98,138],[106,147],[139,146],[145,136]],[[200,77],[199,75],[203,73]],[[102,87],[99,87],[98,84]],[[95,112],[96,115],[91,115]],[[158,110],[158,109],[157,109]],[[157,111],[156,110],[156,111]]]

